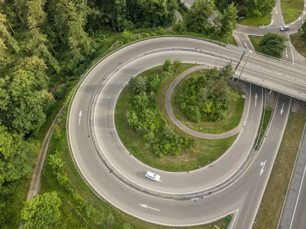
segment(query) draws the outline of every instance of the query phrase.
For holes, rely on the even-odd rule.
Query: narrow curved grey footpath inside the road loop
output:
[[[197,138],[205,138],[205,139],[223,139],[223,138],[229,138],[231,136],[234,136],[236,134],[238,134],[241,129],[243,128],[243,125],[245,123],[246,117],[247,117],[247,110],[249,107],[249,102],[250,102],[250,87],[247,87],[246,90],[246,96],[245,96],[245,103],[244,103],[244,108],[243,108],[243,113],[241,116],[241,120],[238,124],[238,126],[236,126],[233,130],[231,131],[227,131],[224,133],[220,133],[220,134],[207,134],[207,133],[201,133],[201,132],[197,132],[195,130],[192,130],[190,128],[188,128],[186,125],[184,125],[179,119],[177,119],[174,115],[174,112],[172,110],[171,107],[171,95],[174,91],[174,88],[176,87],[177,84],[179,84],[179,82],[186,77],[186,75],[188,75],[191,72],[194,72],[196,70],[200,70],[200,69],[210,69],[210,67],[205,66],[205,65],[201,65],[201,66],[195,66],[192,68],[187,69],[186,71],[182,72],[178,77],[175,78],[175,80],[172,82],[172,84],[170,85],[167,94],[166,94],[166,110],[168,112],[169,117],[171,118],[171,120],[173,121],[173,123],[180,128],[182,131],[197,137]]]

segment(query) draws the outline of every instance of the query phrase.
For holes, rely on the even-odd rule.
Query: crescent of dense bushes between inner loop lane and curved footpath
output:
[[[145,140],[145,149],[155,156],[177,156],[181,147],[194,146],[194,141],[177,135],[164,119],[158,106],[158,94],[163,81],[172,74],[171,60],[163,65],[161,75],[154,77],[132,77],[129,87],[134,95],[129,98],[127,121],[132,129]]]

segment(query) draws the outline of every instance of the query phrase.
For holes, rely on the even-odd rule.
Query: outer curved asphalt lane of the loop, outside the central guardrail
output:
[[[161,41],[165,41],[165,43]],[[79,92],[75,95],[70,108],[70,117],[68,120],[68,132],[69,136],[71,137],[69,140],[71,143],[72,153],[75,157],[75,161],[81,168],[83,176],[93,186],[93,188],[122,211],[128,212],[129,214],[135,215],[147,221],[153,221],[161,224],[200,224],[243,208],[244,204],[246,204],[245,202],[247,201],[246,197],[254,191],[253,186],[245,185],[248,184],[247,181],[253,181],[252,176],[248,177],[243,175],[238,181],[226,188],[226,191],[223,190],[211,196],[196,199],[196,201],[165,200],[139,193],[115,179],[113,174],[108,172],[104,164],[99,160],[98,156],[93,150],[88,131],[89,103],[93,96],[93,92],[96,90],[99,84],[103,82],[104,75],[106,75],[124,59],[133,57],[137,53],[142,53],[145,48],[150,50],[150,45],[160,47],[171,44],[169,46],[173,46],[177,43],[185,42],[185,46],[189,46],[189,41],[195,42],[195,45],[197,46],[204,46],[205,44],[208,45],[209,48],[215,47],[215,50],[220,48],[217,45],[208,44],[207,42],[197,43],[195,40],[190,39],[171,38],[169,40],[157,39],[155,41],[146,41],[132,45],[129,48],[121,49],[117,55],[107,58],[103,61],[103,64],[98,65],[94,71],[90,73],[85,81],[90,81],[90,84],[86,85],[87,83],[83,83],[79,89]],[[194,45],[194,43],[192,43],[192,45]],[[224,53],[232,52],[233,56],[237,55],[238,53],[222,47],[221,50],[223,49]],[[239,55],[240,54],[241,53],[239,53]],[[161,62],[163,61],[164,60],[161,60]],[[247,69],[247,67],[245,69]],[[80,110],[82,110],[81,119],[79,119]],[[283,115],[285,114],[286,111],[283,113]],[[111,124],[105,126],[105,130],[109,128],[113,128]],[[279,131],[275,133],[275,136],[279,135],[282,135],[282,133]],[[273,145],[271,145],[271,147],[273,147]],[[259,153],[259,155],[261,154]],[[253,165],[255,166],[255,164],[252,164],[247,171],[250,171]],[[266,168],[269,169],[269,166],[270,165],[268,165]],[[263,175],[265,175],[265,173]],[[198,181],[198,183],[201,183],[201,180]],[[259,185],[259,187],[261,187],[261,185]],[[260,196],[260,194],[261,193],[259,192],[254,193],[254,200],[252,200],[252,202],[247,201],[247,205],[256,209],[257,202],[259,201],[258,197],[256,198],[256,195]],[[155,208],[160,211],[144,209],[139,204],[148,205],[151,208]],[[252,214],[248,214],[247,217],[245,217],[245,220],[251,222],[252,217]],[[237,222],[241,223],[241,220],[237,220]],[[237,226],[234,228],[241,227]]]

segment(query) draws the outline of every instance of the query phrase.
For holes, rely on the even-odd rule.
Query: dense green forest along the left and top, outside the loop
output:
[[[28,192],[22,179],[33,171],[46,120],[94,58],[117,39],[113,48],[167,34],[230,42],[237,7],[228,5],[212,23],[211,0],[196,0],[190,10],[179,0],[0,1],[0,228],[19,220],[7,209]],[[179,8],[185,20],[166,33]]]

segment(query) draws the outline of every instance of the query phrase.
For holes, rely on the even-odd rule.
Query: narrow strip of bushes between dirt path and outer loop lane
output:
[[[49,155],[48,163],[52,169],[53,174],[56,176],[60,186],[64,187],[65,190],[73,197],[78,203],[77,209],[86,217],[90,217],[95,213],[95,209],[83,199],[76,188],[72,185],[67,174],[64,171],[64,164],[62,160],[63,150],[65,148],[65,137],[63,131],[59,125],[53,126],[54,138],[57,142],[55,151]]]

